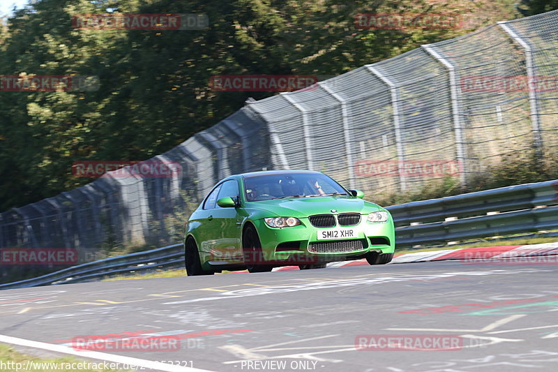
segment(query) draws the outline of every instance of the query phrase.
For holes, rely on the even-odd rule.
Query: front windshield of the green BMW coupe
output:
[[[333,179],[317,173],[266,174],[246,177],[244,195],[248,202],[279,198],[310,198],[349,195]]]

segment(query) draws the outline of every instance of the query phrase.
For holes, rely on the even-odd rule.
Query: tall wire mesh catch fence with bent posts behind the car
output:
[[[239,172],[319,170],[374,200],[447,177],[466,185],[506,156],[556,158],[557,77],[558,10],[422,45],[247,103],[150,159],[179,163],[173,177],[109,172],[3,212],[0,248],[71,247],[87,262],[101,247],[172,244],[213,184]]]

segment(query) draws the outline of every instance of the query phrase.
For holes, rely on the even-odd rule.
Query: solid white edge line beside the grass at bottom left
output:
[[[43,350],[50,350],[54,352],[61,352],[63,354],[76,355],[77,357],[100,359],[107,362],[114,362],[120,364],[128,364],[133,366],[141,366],[148,369],[155,369],[156,371],[167,372],[211,372],[206,369],[196,369],[186,366],[175,366],[161,362],[154,362],[147,359],[137,359],[132,357],[123,357],[121,355],[107,354],[98,351],[82,351],[68,348],[68,346],[54,345],[52,343],[45,343],[39,341],[25,340],[24,338],[17,338],[11,336],[4,336],[0,334],[0,342],[10,343],[12,345],[27,346],[29,348],[37,348]]]

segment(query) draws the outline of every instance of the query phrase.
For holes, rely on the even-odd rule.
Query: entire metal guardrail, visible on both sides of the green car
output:
[[[414,246],[558,229],[558,180],[478,191],[387,207],[398,246]],[[0,290],[80,283],[157,267],[182,267],[183,244],[89,262]]]

